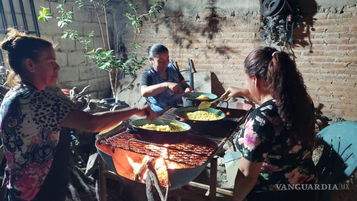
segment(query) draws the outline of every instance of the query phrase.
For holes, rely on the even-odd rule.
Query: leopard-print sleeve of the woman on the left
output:
[[[35,92],[30,99],[32,121],[54,133],[60,131],[61,122],[73,109],[70,103],[44,90]]]

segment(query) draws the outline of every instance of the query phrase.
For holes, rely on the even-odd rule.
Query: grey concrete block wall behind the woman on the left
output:
[[[19,1],[13,1],[17,18],[17,23],[20,30],[24,30],[24,24],[21,17],[21,10]],[[29,1],[25,0],[24,8],[26,13],[26,20],[30,31],[34,31],[34,23],[32,21],[31,9]],[[2,1],[6,13],[6,21],[8,26],[13,26],[14,23],[11,18],[11,11],[9,7],[9,1]],[[58,16],[56,6],[62,3],[62,1],[49,1],[49,0],[35,0],[35,10],[38,17],[41,6],[50,8],[50,12],[54,16]],[[86,6],[83,10],[78,10],[72,1],[68,1],[65,5],[66,11],[74,12],[73,23],[70,24],[70,28],[75,29],[79,34],[87,35],[89,31],[95,32],[95,39],[92,41],[97,48],[103,46],[100,26],[96,15],[92,15],[92,6]],[[112,17],[110,16],[109,23],[112,24]],[[36,17],[36,18],[37,18]],[[102,21],[103,19],[101,19]],[[104,21],[104,20],[103,20]],[[108,98],[111,95],[109,75],[105,70],[101,70],[96,67],[91,67],[91,64],[85,64],[87,61],[84,57],[83,50],[78,43],[75,43],[71,39],[61,39],[61,33],[64,28],[61,29],[57,26],[56,19],[50,19],[48,22],[43,20],[38,22],[40,35],[42,38],[50,39],[54,41],[56,45],[56,57],[57,63],[60,65],[58,84],[61,88],[73,88],[78,87],[82,90],[87,85],[91,85],[92,98]],[[104,28],[104,26],[102,25]],[[4,38],[5,34],[0,35],[0,39]]]

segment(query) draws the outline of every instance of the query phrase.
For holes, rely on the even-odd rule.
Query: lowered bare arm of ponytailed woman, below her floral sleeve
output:
[[[241,158],[233,189],[233,201],[241,201],[252,190],[258,180],[263,162],[251,162]]]

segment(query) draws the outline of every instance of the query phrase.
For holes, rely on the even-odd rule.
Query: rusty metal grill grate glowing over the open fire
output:
[[[177,117],[173,113],[175,109],[171,108],[165,112],[163,111],[164,113],[161,114],[160,118],[176,119]],[[235,132],[246,113],[242,113],[237,118],[223,119],[220,124],[206,126],[208,129],[203,132],[207,135],[202,135],[202,131],[192,129],[188,133],[187,140],[180,144],[162,145],[144,142],[122,131],[117,131],[111,137],[108,136],[101,139],[100,143],[151,157],[165,158],[176,163],[199,166],[206,163],[209,158],[216,154],[227,138]]]

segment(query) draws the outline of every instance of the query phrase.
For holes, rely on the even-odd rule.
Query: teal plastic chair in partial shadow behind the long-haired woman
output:
[[[357,167],[357,122],[334,123],[322,129],[317,136],[324,146],[316,164],[318,183],[333,186],[348,180]],[[321,191],[319,197],[331,200],[332,193],[332,190]]]

